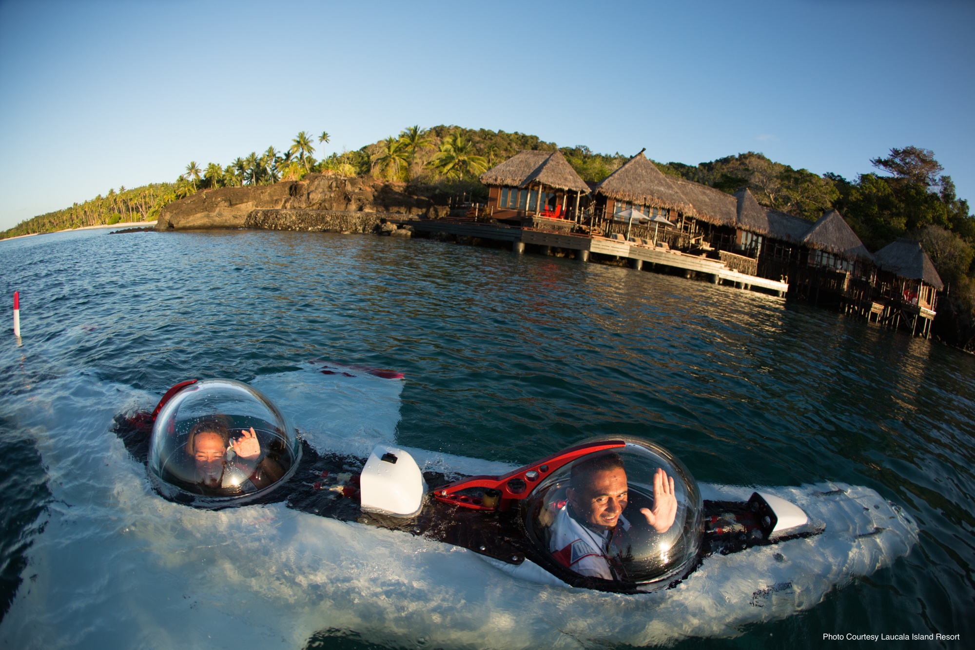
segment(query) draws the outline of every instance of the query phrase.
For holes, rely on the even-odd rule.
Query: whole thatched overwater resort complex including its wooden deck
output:
[[[481,176],[493,219],[414,227],[511,242],[519,253],[676,269],[929,336],[943,283],[917,241],[898,240],[875,259],[836,210],[813,223],[763,207],[747,188],[728,194],[667,176],[644,151],[590,189],[560,151],[523,150]]]

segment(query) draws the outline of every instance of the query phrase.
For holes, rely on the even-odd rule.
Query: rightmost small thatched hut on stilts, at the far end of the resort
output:
[[[878,322],[899,327],[910,324],[911,333],[927,338],[937,308],[937,292],[944,283],[920,242],[898,239],[874,255],[878,267],[875,306]],[[918,321],[920,321],[918,323]]]

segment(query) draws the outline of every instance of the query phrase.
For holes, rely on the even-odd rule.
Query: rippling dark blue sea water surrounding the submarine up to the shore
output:
[[[975,361],[731,288],[426,240],[85,231],[0,242],[4,647],[819,647],[975,631]],[[5,299],[6,300],[6,299]],[[402,381],[323,376],[364,364]],[[282,505],[170,504],[108,430],[183,379],[270,395],[311,444],[499,472],[653,439],[705,496],[827,533],[640,596]],[[947,645],[956,647],[956,643]]]

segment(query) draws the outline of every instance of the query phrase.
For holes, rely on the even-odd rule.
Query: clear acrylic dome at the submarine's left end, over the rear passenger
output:
[[[267,397],[241,382],[205,380],[159,412],[148,469],[163,496],[222,507],[271,491],[300,455],[294,430]]]

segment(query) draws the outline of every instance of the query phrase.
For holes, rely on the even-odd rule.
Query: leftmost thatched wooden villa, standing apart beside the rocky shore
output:
[[[494,219],[522,217],[574,221],[579,200],[589,193],[561,151],[526,149],[481,175],[487,212]]]

